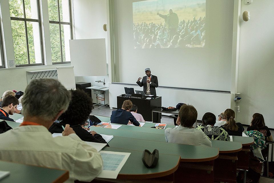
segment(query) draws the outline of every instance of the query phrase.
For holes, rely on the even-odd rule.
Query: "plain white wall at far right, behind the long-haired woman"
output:
[[[250,124],[255,112],[274,128],[274,1],[241,2],[241,14],[250,11],[250,20],[240,22],[238,92],[241,92],[237,121]]]

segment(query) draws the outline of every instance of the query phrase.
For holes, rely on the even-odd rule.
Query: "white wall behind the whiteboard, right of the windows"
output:
[[[108,61],[108,33],[103,30],[103,24],[107,23],[108,16],[107,0],[74,0],[73,1],[73,16],[74,16],[74,39],[106,39],[106,58]],[[108,65],[107,65],[108,67]],[[110,69],[108,69],[110,70]],[[87,76],[75,77],[75,82],[89,82],[91,86],[100,86],[102,83],[95,81],[101,80],[106,82],[106,87],[109,83],[109,75],[107,76]],[[92,94],[93,100],[96,95]],[[93,101],[94,102],[94,101]],[[106,103],[109,103],[106,96]]]

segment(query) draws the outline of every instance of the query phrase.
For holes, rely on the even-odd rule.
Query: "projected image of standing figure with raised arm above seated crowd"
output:
[[[132,3],[134,48],[204,47],[206,0]]]

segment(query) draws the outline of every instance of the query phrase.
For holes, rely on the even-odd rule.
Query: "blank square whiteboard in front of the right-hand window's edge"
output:
[[[105,39],[72,39],[69,48],[75,76],[107,75]]]

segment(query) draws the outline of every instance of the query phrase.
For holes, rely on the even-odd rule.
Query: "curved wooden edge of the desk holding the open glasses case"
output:
[[[151,173],[151,174],[118,174],[117,178],[119,179],[146,179],[146,178],[158,178],[170,175],[174,173],[180,164],[181,156],[179,156],[178,163],[176,166],[174,166],[172,169],[164,171],[164,172],[157,172],[157,173]]]

